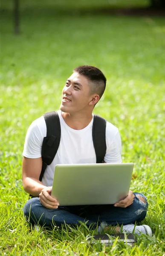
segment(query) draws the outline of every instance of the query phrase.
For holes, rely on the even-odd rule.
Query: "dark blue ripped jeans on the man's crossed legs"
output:
[[[47,209],[39,198],[29,199],[23,207],[23,213],[32,224],[40,224],[45,227],[58,226],[61,224],[79,224],[79,221],[97,225],[98,221],[106,221],[111,225],[126,225],[142,221],[145,218],[148,203],[144,195],[133,193],[135,198],[133,204],[126,208],[106,205],[83,205],[83,206],[59,206],[58,209]],[[145,203],[136,195],[145,199]]]

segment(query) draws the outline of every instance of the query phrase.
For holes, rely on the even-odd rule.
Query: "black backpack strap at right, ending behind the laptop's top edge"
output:
[[[106,120],[101,116],[93,116],[92,137],[96,153],[96,163],[102,163],[106,154]]]

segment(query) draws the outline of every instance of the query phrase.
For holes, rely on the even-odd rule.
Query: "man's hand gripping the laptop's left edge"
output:
[[[46,187],[39,194],[41,204],[49,209],[57,209],[59,204],[58,201],[53,198],[50,194],[52,192],[52,187]]]

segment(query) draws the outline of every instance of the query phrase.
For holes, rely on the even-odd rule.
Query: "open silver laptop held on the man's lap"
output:
[[[61,206],[115,204],[128,195],[133,163],[55,166],[52,196]]]

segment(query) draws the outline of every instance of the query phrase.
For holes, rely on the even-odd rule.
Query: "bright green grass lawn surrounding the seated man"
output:
[[[42,15],[41,15],[42,14]],[[27,10],[21,34],[10,12],[1,15],[0,253],[2,255],[165,255],[165,20]],[[107,77],[97,113],[119,128],[123,162],[135,163],[131,189],[148,198],[144,224],[153,237],[134,247],[89,244],[81,225],[31,230],[23,219],[28,199],[21,182],[23,143],[30,123],[57,110],[72,69],[95,65]]]

